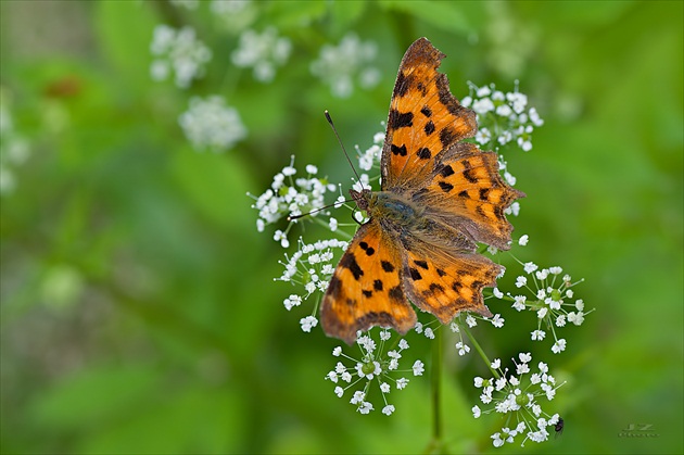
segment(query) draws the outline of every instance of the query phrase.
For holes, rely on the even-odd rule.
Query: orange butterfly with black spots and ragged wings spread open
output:
[[[390,103],[381,190],[350,190],[369,220],[320,307],[324,331],[349,344],[373,326],[405,334],[417,321],[409,301],[442,324],[459,312],[492,316],[482,288],[496,286],[503,267],[477,254],[477,242],[509,248],[504,211],[524,193],[501,178],[496,153],[464,141],[477,132],[476,114],[438,72],[444,56],[426,38],[408,48]]]

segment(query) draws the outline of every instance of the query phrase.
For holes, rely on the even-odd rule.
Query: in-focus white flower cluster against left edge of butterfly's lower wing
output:
[[[346,250],[347,243],[338,239],[319,240],[315,243],[304,243],[302,239],[299,241],[299,250],[289,257],[286,254],[286,262],[280,262],[284,267],[284,271],[278,281],[289,281],[304,288],[303,294],[292,293],[282,304],[287,311],[291,311],[295,306],[300,306],[302,302],[307,300],[314,292],[322,295],[328,289],[330,277],[334,271],[334,250]],[[318,325],[318,319],[314,316],[307,316],[300,320],[302,330],[309,332],[313,327]]]

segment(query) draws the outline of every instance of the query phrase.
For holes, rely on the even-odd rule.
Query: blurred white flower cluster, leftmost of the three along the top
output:
[[[153,80],[166,80],[175,74],[176,86],[188,88],[192,79],[204,75],[204,65],[212,60],[212,50],[195,37],[194,28],[180,29],[157,25],[150,45],[155,56],[150,66]]]

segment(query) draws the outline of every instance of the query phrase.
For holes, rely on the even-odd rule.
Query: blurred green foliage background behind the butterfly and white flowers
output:
[[[283,309],[283,251],[256,232],[245,192],[293,153],[349,181],[322,111],[346,144],[368,147],[404,50],[427,36],[456,97],[467,80],[511,90],[518,78],[545,119],[531,152],[508,154],[528,194],[515,224],[531,241],[517,254],[584,277],[575,295],[596,308],[553,358],[568,383],[546,408],[566,430],[545,444],[494,450],[503,422],[470,415],[478,361],[447,349],[449,450],[681,453],[682,4],[259,3],[253,27],[293,43],[262,85],[231,65],[238,38],[206,4],[3,0],[3,102],[31,154],[0,199],[2,452],[423,451],[427,378],[391,394],[390,418],[333,395],[322,377],[338,343],[301,332],[308,307]],[[214,53],[188,90],[149,77],[162,23],[194,26]],[[382,79],[341,100],[308,65],[350,30],[378,43]],[[223,154],[197,153],[177,125],[191,96],[212,93],[250,131]],[[528,332],[482,337],[506,358]],[[650,427],[620,437],[630,425]]]

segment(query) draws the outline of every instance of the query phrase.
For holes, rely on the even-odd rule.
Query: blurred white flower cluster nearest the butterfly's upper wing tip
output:
[[[347,98],[354,91],[355,79],[364,89],[372,88],[380,81],[380,71],[372,66],[377,54],[375,42],[363,42],[350,33],[337,47],[325,45],[318,60],[312,62],[311,71],[330,85],[334,97]]]

